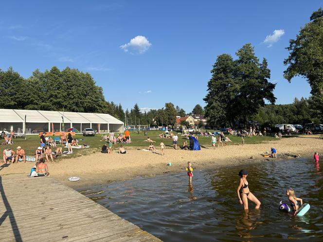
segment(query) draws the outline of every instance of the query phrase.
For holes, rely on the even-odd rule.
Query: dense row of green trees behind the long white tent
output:
[[[14,109],[108,113],[124,117],[121,105],[105,101],[102,87],[89,73],[57,67],[23,79],[12,68],[0,70],[0,106]],[[120,117],[119,117],[120,116]]]

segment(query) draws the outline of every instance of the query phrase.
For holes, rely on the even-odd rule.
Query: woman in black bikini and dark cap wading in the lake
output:
[[[252,201],[256,204],[255,208],[258,209],[260,207],[261,203],[249,190],[249,187],[248,187],[249,183],[247,181],[247,175],[248,175],[248,172],[246,170],[241,170],[239,172],[240,182],[239,182],[239,186],[237,188],[239,203],[241,205],[243,205],[245,210],[248,210],[248,199],[249,199],[250,201]]]

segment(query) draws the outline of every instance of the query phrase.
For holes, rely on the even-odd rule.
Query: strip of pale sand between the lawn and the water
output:
[[[48,166],[52,177],[72,188],[79,188],[132,179],[137,176],[155,176],[168,172],[184,173],[187,161],[191,161],[196,170],[216,169],[220,166],[234,166],[242,163],[272,162],[274,159],[260,155],[266,151],[269,152],[271,147],[277,149],[278,159],[295,158],[296,156],[311,158],[315,151],[318,151],[319,154],[322,152],[323,139],[320,139],[319,136],[300,136],[261,144],[227,145],[215,150],[208,147],[201,151],[174,150],[167,147],[164,156],[132,148],[127,149],[126,155],[116,152],[112,154],[95,152],[90,156],[49,162]],[[169,162],[172,163],[171,166],[167,165]],[[34,163],[28,162],[10,164],[7,167],[2,167],[0,175],[27,175],[33,165]],[[79,176],[81,180],[70,182],[67,180],[70,176]]]

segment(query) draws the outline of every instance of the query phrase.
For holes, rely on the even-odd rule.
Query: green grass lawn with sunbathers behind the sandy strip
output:
[[[140,131],[138,134],[137,131],[130,132],[130,138],[131,138],[131,143],[130,144],[125,144],[123,143],[122,145],[127,149],[127,147],[131,147],[131,149],[143,149],[147,148],[149,146],[149,143],[144,141],[147,137],[151,138],[152,140],[156,141],[154,143],[155,146],[157,146],[157,149],[159,149],[159,144],[160,144],[160,138],[159,134],[160,131],[148,131],[147,136],[144,136],[144,132]],[[78,143],[79,145],[82,144],[87,144],[90,145],[90,148],[87,149],[73,149],[74,153],[68,156],[59,156],[56,160],[59,160],[61,158],[72,158],[72,157],[77,157],[77,156],[82,156],[82,155],[89,155],[91,153],[96,153],[101,150],[102,145],[105,143],[102,141],[101,138],[102,134],[96,134],[94,137],[83,137],[82,135],[76,135],[76,138],[79,140]],[[228,136],[232,142],[223,142],[224,145],[233,145],[233,144],[241,144],[241,138],[240,137],[235,137],[235,136]],[[82,139],[82,140],[80,140]],[[264,141],[268,140],[273,140],[273,137],[252,137],[252,138],[245,138],[245,144],[257,144],[261,143]],[[182,145],[183,141],[185,141],[185,137],[181,137],[179,133],[179,146]],[[202,148],[211,148],[211,138],[210,137],[202,137],[198,136],[198,141],[201,145]],[[1,140],[3,142],[3,139]],[[171,138],[163,138],[163,142],[166,146],[166,148],[172,148],[173,147],[173,142]],[[1,153],[2,151],[10,147],[16,152],[17,146],[21,146],[24,150],[27,156],[34,156],[35,151],[38,146],[40,146],[40,139],[38,136],[27,136],[26,140],[24,138],[16,138],[14,139],[14,144],[12,145],[1,145]],[[57,145],[58,147],[63,147],[63,145]],[[117,143],[116,145],[112,146],[113,150],[118,150],[120,146],[120,143]],[[67,150],[67,148],[63,147],[63,151]],[[54,151],[54,148],[52,148],[52,151]],[[2,160],[2,156],[1,156]]]

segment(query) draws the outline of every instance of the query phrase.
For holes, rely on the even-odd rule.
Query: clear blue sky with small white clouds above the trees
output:
[[[69,66],[89,72],[106,100],[131,108],[204,106],[217,55],[251,43],[267,58],[277,104],[308,97],[283,78],[288,40],[323,0],[74,0],[1,3],[0,69],[23,77]],[[276,30],[276,31],[275,31]],[[267,39],[267,40],[265,40]]]

